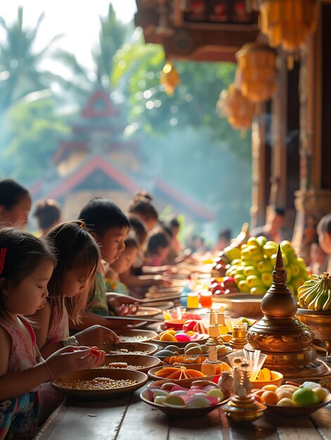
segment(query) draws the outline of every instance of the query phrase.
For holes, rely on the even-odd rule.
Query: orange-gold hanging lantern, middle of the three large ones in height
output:
[[[243,96],[259,103],[275,93],[275,51],[258,42],[247,43],[235,54],[236,84]]]

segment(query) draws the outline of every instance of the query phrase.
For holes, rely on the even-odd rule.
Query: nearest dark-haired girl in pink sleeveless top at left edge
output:
[[[100,365],[105,353],[66,347],[41,358],[30,323],[44,307],[56,266],[53,249],[29,233],[0,231],[0,440],[34,434],[41,382]]]

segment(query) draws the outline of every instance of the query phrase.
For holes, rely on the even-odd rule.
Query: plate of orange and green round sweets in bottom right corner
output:
[[[285,382],[285,384],[265,385],[253,392],[258,401],[267,406],[266,414],[279,418],[293,418],[310,415],[319,408],[331,403],[330,385],[323,380],[303,384]]]

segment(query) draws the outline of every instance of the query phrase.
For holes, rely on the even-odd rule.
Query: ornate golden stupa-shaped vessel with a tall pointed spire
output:
[[[329,372],[316,360],[313,332],[297,319],[297,302],[286,285],[282,253],[278,247],[273,284],[261,302],[264,317],[247,331],[246,350],[266,354],[264,366],[280,371],[284,377],[316,377]]]

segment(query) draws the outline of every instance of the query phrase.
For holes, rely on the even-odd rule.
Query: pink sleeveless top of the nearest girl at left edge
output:
[[[1,327],[4,328],[11,337],[11,353],[8,361],[8,373],[27,370],[27,368],[33,367],[38,363],[37,358],[40,356],[32,326],[21,316],[19,319],[31,335],[32,348],[18,328],[15,328],[11,323],[8,323],[4,318],[0,317]]]

